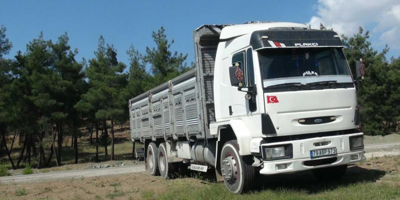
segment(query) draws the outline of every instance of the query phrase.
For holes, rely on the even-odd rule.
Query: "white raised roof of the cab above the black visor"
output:
[[[266,30],[270,28],[309,28],[306,24],[293,22],[266,22],[256,24],[239,24],[233,26],[225,26],[220,35],[220,40],[226,40],[237,36],[252,33],[257,30]]]

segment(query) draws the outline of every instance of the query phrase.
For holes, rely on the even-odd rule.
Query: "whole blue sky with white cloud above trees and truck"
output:
[[[348,36],[362,26],[370,30],[374,49],[381,51],[388,44],[388,56],[400,55],[398,0],[44,0],[3,1],[1,5],[0,25],[7,28],[6,37],[13,44],[6,58],[13,58],[18,50],[25,52],[26,44],[41,31],[45,40],[54,42],[67,32],[70,46],[79,51],[76,60],[93,58],[102,34],[118,51],[118,61],[128,64],[129,46],[144,53],[146,46],[154,46],[152,31],[164,26],[169,41],[174,40],[171,50],[188,54],[190,64],[194,60],[192,30],[202,24],[247,21],[301,22],[313,28],[322,22]]]

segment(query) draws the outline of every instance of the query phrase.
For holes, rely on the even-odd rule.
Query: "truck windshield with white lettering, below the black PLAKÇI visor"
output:
[[[268,48],[258,50],[264,81],[303,76],[350,76],[340,48]]]

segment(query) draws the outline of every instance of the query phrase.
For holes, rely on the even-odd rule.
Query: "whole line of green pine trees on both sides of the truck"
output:
[[[320,29],[326,28],[321,24]],[[77,62],[78,50],[68,44],[67,33],[56,42],[44,40],[40,33],[25,52],[5,59],[12,42],[1,26],[0,156],[8,156],[13,169],[21,162],[30,164],[32,156],[38,160],[37,168],[49,166],[52,159],[58,166],[63,138],[70,136],[78,163],[78,135],[86,127],[96,146],[95,161],[99,148],[104,148],[106,159],[114,160],[114,125],[128,121],[128,100],[193,67],[185,62],[187,54],[170,51],[173,40],[168,42],[163,27],[152,32],[152,38],[155,47],[147,47],[143,54],[130,46],[128,65],[117,60],[116,49],[103,36],[94,58]],[[356,60],[362,58],[366,66],[364,80],[356,80],[362,130],[367,135],[387,135],[399,130],[400,57],[387,60],[388,46],[378,52],[368,38],[369,32],[362,28],[351,37],[342,35],[344,53],[353,74]],[[21,148],[13,160],[16,137]],[[51,146],[47,158],[44,146]]]

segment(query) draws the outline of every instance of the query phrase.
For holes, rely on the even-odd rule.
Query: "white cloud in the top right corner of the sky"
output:
[[[320,23],[339,34],[352,36],[362,26],[372,30],[376,40],[390,48],[400,48],[399,0],[318,0],[316,16],[308,24],[318,29]],[[372,35],[371,35],[372,36]]]

